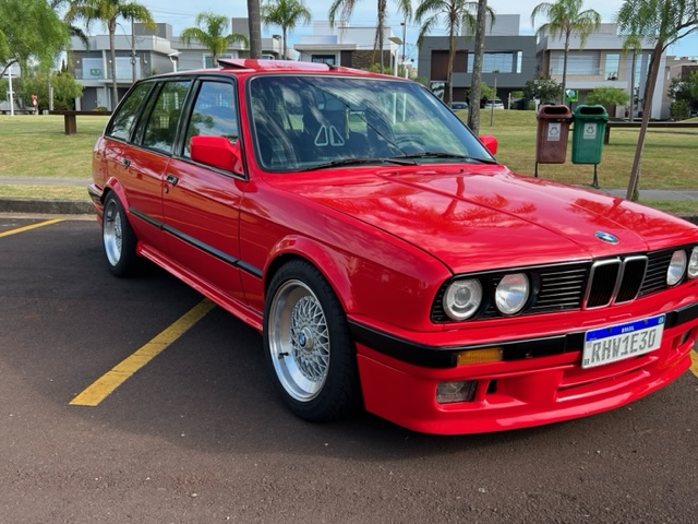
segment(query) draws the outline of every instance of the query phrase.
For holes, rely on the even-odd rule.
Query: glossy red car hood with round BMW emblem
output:
[[[454,273],[642,252],[696,238],[696,228],[681,218],[504,166],[357,168],[344,175],[293,191],[428,251]]]

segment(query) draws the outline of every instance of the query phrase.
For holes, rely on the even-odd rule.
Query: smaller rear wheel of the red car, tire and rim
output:
[[[105,200],[101,240],[107,266],[115,276],[134,276],[143,270],[143,259],[136,254],[137,239],[119,199],[109,193]]]

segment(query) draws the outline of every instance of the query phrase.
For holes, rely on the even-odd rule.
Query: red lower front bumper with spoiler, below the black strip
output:
[[[460,367],[416,365],[359,342],[365,407],[406,428],[440,434],[526,428],[619,407],[666,385],[690,366],[698,303],[666,314],[673,321],[659,349],[590,369],[581,368],[581,346],[570,347],[580,340],[578,333],[564,337],[558,354]],[[537,342],[516,344],[532,348]],[[477,381],[472,401],[436,402],[441,382],[461,380]]]

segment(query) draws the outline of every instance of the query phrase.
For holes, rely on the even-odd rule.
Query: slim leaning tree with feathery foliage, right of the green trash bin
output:
[[[642,123],[626,193],[628,200],[637,200],[640,163],[660,60],[669,46],[698,29],[698,5],[696,0],[625,0],[615,19],[618,33],[624,37],[627,47],[637,47],[641,40],[654,45],[645,86]]]

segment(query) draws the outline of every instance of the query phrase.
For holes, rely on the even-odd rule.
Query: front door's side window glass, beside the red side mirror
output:
[[[232,84],[213,81],[202,83],[189,122],[184,156],[191,156],[189,144],[192,136],[226,136],[230,142],[238,139],[234,100]]]

